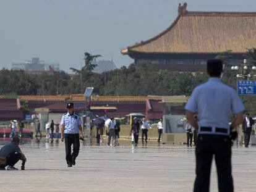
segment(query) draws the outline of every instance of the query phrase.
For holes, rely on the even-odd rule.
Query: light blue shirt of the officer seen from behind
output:
[[[244,105],[233,88],[220,78],[209,78],[194,89],[185,109],[197,112],[198,134],[229,135],[230,114],[244,111]],[[211,127],[212,130],[201,131],[200,127]],[[228,133],[215,132],[215,128],[225,128]]]

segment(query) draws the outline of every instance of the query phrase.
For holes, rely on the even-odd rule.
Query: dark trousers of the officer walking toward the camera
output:
[[[66,148],[66,161],[67,164],[75,161],[75,158],[79,154],[80,142],[79,142],[79,134],[64,134],[65,138],[65,148]],[[71,145],[73,144],[73,152],[71,154]]]

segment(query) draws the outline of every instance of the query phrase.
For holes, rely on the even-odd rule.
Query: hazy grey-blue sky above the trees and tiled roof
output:
[[[83,52],[114,59],[117,67],[133,60],[121,48],[147,40],[187,10],[255,12],[255,0],[0,0],[0,69],[40,57],[61,70],[80,68]]]

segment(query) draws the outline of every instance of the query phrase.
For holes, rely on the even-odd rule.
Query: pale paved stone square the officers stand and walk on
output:
[[[0,146],[1,147],[1,146]],[[64,144],[20,146],[25,170],[0,172],[0,191],[192,191],[195,148],[130,144],[109,148],[81,143],[77,165],[67,167]],[[256,147],[233,147],[235,191],[256,191]],[[20,168],[20,163],[16,165]],[[211,191],[218,191],[213,163]]]

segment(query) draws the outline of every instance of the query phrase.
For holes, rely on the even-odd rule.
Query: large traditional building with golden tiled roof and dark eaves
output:
[[[135,60],[166,65],[171,70],[204,69],[208,59],[232,50],[233,64],[256,48],[256,12],[188,11],[178,8],[176,20],[159,35],[121,50]]]

